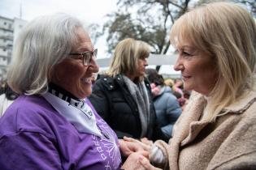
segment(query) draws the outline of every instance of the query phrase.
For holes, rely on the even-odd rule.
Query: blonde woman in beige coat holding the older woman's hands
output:
[[[253,17],[233,3],[210,3],[174,23],[171,44],[179,52],[175,69],[193,94],[169,144],[146,148],[150,161],[165,169],[256,169]]]

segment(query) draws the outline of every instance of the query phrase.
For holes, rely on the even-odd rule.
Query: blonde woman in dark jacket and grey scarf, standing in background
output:
[[[93,85],[89,100],[118,138],[162,138],[155,127],[150,83],[144,78],[149,55],[150,46],[145,42],[121,40],[115,47],[110,69]]]

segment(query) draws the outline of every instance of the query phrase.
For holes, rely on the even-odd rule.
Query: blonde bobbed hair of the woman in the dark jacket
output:
[[[115,52],[111,61],[110,69],[106,74],[115,77],[117,74],[130,74],[137,73],[137,64],[140,58],[150,56],[150,45],[141,40],[134,40],[127,38],[121,40],[115,47]],[[138,78],[144,79],[144,76]]]

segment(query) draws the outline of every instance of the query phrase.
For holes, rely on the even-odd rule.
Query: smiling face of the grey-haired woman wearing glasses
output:
[[[77,29],[79,43],[72,53],[93,52],[93,45],[89,35],[81,28]],[[55,65],[51,72],[51,82],[63,87],[79,99],[84,99],[92,93],[93,73],[98,72],[98,66],[94,59],[88,66],[84,66],[82,57],[67,57]]]

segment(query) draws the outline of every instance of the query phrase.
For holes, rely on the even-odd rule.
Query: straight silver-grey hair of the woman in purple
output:
[[[34,19],[15,40],[7,81],[19,94],[40,94],[47,90],[50,70],[68,57],[78,42],[77,29],[82,24],[65,14]]]

